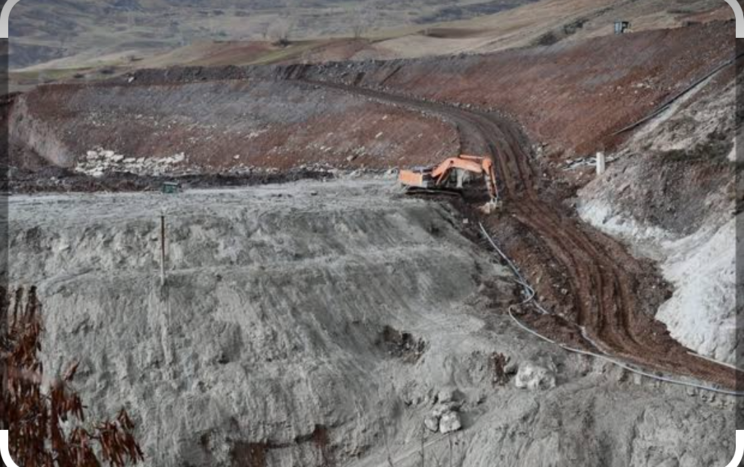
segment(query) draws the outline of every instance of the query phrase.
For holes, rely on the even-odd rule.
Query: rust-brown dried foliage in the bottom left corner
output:
[[[13,298],[3,301],[0,313],[1,324],[9,324],[0,342],[0,424],[10,428],[10,457],[21,466],[37,467],[100,467],[101,460],[124,467],[143,460],[124,409],[114,420],[83,423],[83,401],[70,387],[77,364],[60,378],[45,376],[36,289],[16,290]]]

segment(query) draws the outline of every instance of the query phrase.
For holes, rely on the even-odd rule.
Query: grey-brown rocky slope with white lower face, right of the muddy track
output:
[[[740,80],[741,76],[737,78]],[[580,192],[587,221],[661,261],[676,286],[658,319],[703,355],[737,356],[734,69],[644,125]]]

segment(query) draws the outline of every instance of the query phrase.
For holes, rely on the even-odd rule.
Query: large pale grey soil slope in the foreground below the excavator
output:
[[[469,224],[393,185],[13,197],[13,283],[39,286],[47,368],[80,357],[91,410],[125,405],[151,466],[414,466],[422,434],[430,466],[728,462],[733,401],[519,330]],[[556,386],[517,388],[530,366]],[[464,430],[423,431],[454,389]]]

